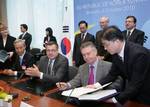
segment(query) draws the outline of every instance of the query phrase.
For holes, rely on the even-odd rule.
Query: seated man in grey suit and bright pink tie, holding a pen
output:
[[[67,83],[56,83],[59,89],[65,90],[67,88],[94,84],[108,74],[112,64],[110,62],[100,60],[97,57],[97,49],[92,42],[83,43],[80,50],[86,63],[79,67],[78,74],[74,79]],[[114,87],[113,85],[115,85],[115,87],[121,86],[120,83],[117,85],[114,83],[112,84],[112,87]]]

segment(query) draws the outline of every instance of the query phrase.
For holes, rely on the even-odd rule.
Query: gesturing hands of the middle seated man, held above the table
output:
[[[36,77],[40,77],[40,71],[39,68],[36,65],[33,65],[33,67],[27,68],[25,70],[26,75],[30,75],[30,76],[36,76]]]

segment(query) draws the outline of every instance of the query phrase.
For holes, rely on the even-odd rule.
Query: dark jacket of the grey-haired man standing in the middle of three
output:
[[[112,61],[112,56],[104,49],[104,46],[101,42],[101,37],[103,35],[103,30],[99,30],[96,32],[96,40],[95,40],[95,45],[98,50],[98,55],[99,56],[104,56],[105,61]]]

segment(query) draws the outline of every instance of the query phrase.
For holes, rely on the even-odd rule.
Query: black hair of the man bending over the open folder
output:
[[[114,41],[114,40],[121,40],[124,41],[124,36],[121,30],[116,26],[109,26],[104,29],[102,40]]]

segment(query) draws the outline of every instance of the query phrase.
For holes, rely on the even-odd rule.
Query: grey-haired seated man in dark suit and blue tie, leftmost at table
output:
[[[13,56],[13,66],[11,69],[4,70],[4,74],[17,75],[18,72],[22,72],[26,68],[31,67],[34,64],[33,56],[25,50],[26,45],[24,40],[16,39],[14,41],[14,47],[16,53]]]

